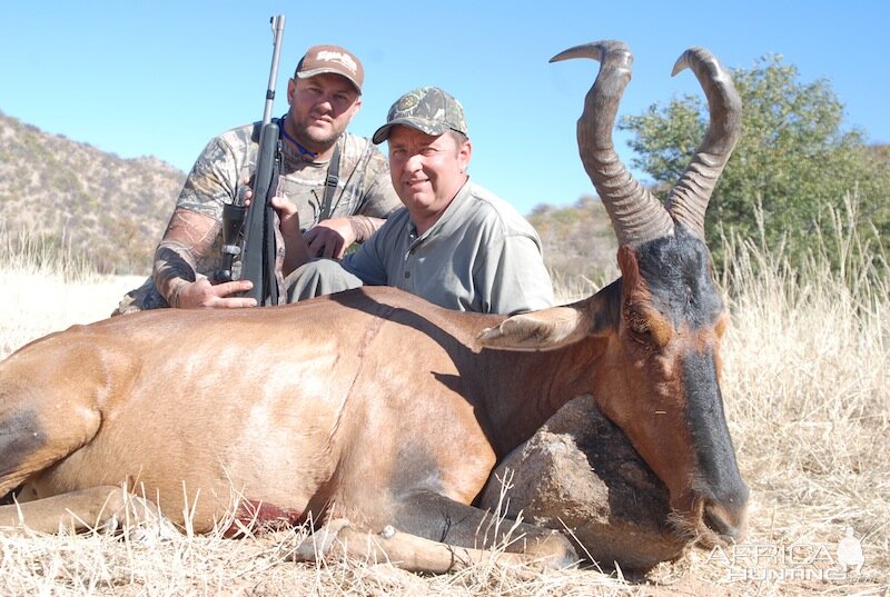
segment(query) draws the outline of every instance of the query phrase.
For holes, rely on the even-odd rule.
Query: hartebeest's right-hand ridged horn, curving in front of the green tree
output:
[[[675,76],[692,69],[708,98],[711,121],[683,176],[668,198],[671,217],[704,240],[704,211],[742,130],[742,100],[729,70],[704,48],[690,48],[678,59]]]

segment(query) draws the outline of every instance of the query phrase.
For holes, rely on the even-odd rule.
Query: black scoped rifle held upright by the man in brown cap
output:
[[[254,172],[253,200],[245,206],[243,193],[237,193],[230,205],[222,208],[222,266],[217,279],[233,279],[231,267],[235,257],[240,256],[239,279],[250,280],[254,287],[241,296],[254,298],[257,305],[278,305],[279,291],[276,280],[275,261],[277,246],[275,240],[275,211],[271,198],[278,187],[280,169],[278,123],[271,120],[275,101],[275,82],[278,77],[278,54],[281,49],[281,34],[285,17],[270,19],[275,40],[273,42],[271,71],[266,89],[266,106],[259,130],[259,150]]]

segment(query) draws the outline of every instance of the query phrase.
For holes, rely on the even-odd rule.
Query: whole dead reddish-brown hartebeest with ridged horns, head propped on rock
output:
[[[191,527],[207,531],[233,514],[235,492],[236,517],[325,523],[322,550],[348,539],[353,553],[448,570],[500,539],[479,536],[486,515],[472,505],[497,460],[591,392],[665,484],[690,536],[740,537],[748,489],[719,385],[728,315],[704,243],[739,97],[706,50],[678,61],[675,71],[689,67],[701,82],[711,121],[665,207],[612,145],[630,51],[604,41],[554,60],[574,57],[601,62],[577,137],[617,233],[620,279],[574,305],[508,318],[362,288],[52,334],[0,364],[0,496],[14,490],[17,500],[0,507],[0,526],[117,524],[152,503],[182,525],[185,497]],[[125,500],[121,487],[148,499]],[[518,557],[576,558],[557,533],[513,533]]]

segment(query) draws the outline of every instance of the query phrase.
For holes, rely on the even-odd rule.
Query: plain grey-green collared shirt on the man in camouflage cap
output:
[[[537,232],[469,181],[423,236],[402,208],[342,265],[365,285],[394,286],[447,309],[508,315],[554,304]]]

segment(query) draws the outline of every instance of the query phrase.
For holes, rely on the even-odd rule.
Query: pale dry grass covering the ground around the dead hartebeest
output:
[[[286,555],[300,531],[162,541],[0,535],[0,594],[890,595],[890,270],[874,258],[880,248],[850,232],[853,208],[838,215],[838,235],[825,240],[840,243],[840,268],[814,256],[791,270],[781,248],[725,241],[734,257],[721,277],[733,317],[724,399],[752,490],[749,537],[734,550],[693,550],[626,583],[620,574],[538,574],[496,561],[436,577],[365,561],[294,564]],[[0,357],[105,317],[138,281],[85,279],[66,273],[68,266],[24,260],[0,269],[12,297]],[[825,569],[837,568],[848,526],[866,560],[859,575],[838,578]]]

